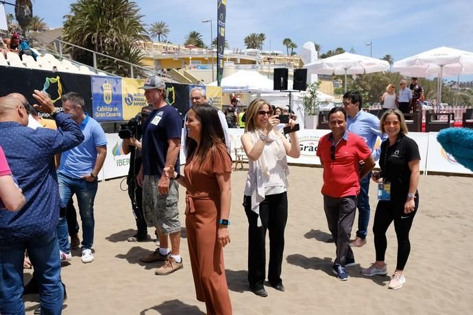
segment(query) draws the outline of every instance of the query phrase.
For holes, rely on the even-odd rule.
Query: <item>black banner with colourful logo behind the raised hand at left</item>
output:
[[[30,104],[36,104],[32,97],[34,90],[43,90],[49,94],[56,107],[62,108],[62,95],[77,92],[84,98],[85,109],[92,114],[92,92],[90,76],[73,73],[33,70],[29,68],[1,67],[0,95],[16,92],[24,95]],[[48,118],[49,114],[41,114]]]

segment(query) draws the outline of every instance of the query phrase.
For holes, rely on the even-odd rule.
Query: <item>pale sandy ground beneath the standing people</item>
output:
[[[246,165],[245,165],[246,166]],[[411,229],[411,255],[400,290],[388,290],[389,277],[364,277],[360,268],[374,262],[372,223],[367,244],[354,249],[356,266],[350,279],[332,275],[335,245],[329,237],[323,210],[322,168],[291,166],[289,220],[282,266],[286,292],[267,286],[261,298],[247,286],[247,218],[241,205],[246,169],[232,173],[231,244],[225,249],[226,275],[234,314],[467,314],[472,312],[473,220],[470,216],[472,177],[422,175],[420,208]],[[149,242],[127,242],[136,228],[130,200],[120,190],[122,179],[99,184],[95,199],[95,260],[82,264],[73,251],[62,268],[68,298],[64,314],[204,314],[195,299],[185,227],[181,255],[184,269],[168,276],[154,275],[158,263],[139,258],[156,249]],[[126,184],[123,183],[122,186]],[[184,188],[180,214],[184,225]],[[376,186],[370,187],[372,218]],[[356,231],[356,220],[352,235]],[[154,238],[154,229],[149,229]],[[82,231],[80,232],[82,239]],[[267,246],[269,247],[269,245]],[[388,231],[386,262],[396,267],[396,235]],[[25,270],[25,281],[32,270]],[[33,314],[38,296],[25,297]]]

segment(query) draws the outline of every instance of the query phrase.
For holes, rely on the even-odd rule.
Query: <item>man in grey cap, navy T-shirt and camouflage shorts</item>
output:
[[[141,88],[145,90],[147,103],[153,106],[153,111],[143,123],[143,162],[136,181],[143,186],[143,214],[146,223],[148,227],[156,227],[160,241],[160,247],[154,253],[142,257],[141,261],[165,262],[155,273],[169,275],[182,268],[179,251],[179,191],[178,182],[166,177],[162,168],[172,165],[179,174],[182,117],[178,110],[167,103],[167,89],[162,78],[156,75],[149,77]]]

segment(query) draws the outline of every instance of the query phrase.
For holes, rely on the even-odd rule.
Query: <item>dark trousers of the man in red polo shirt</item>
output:
[[[341,198],[324,196],[324,210],[328,229],[337,246],[335,264],[345,266],[347,260],[354,260],[350,247],[350,234],[356,213],[356,196]]]

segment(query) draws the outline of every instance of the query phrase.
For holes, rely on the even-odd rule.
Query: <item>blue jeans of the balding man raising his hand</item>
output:
[[[40,288],[41,314],[61,314],[63,289],[56,231],[0,246],[0,314],[25,314],[23,260],[25,249]]]

